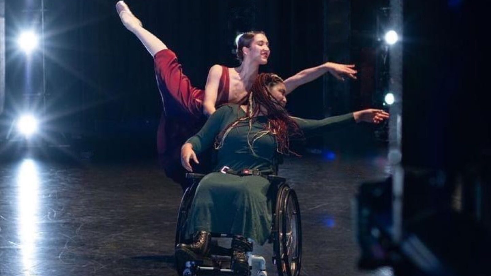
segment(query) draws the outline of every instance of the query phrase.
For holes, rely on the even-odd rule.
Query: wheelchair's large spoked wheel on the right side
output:
[[[299,276],[301,265],[300,208],[295,191],[278,189],[274,231],[274,261],[278,276]]]

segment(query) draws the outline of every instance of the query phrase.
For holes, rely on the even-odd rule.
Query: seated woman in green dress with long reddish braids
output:
[[[232,240],[232,268],[248,269],[246,238],[264,244],[272,222],[270,182],[259,175],[239,176],[243,170],[271,174],[279,154],[289,149],[292,138],[337,130],[358,122],[380,123],[389,114],[383,110],[360,110],[322,120],[300,119],[285,110],[286,87],[274,74],[260,74],[245,106],[225,105],[213,113],[203,128],[181,149],[181,163],[192,172],[190,161],[215,145],[218,164],[200,181],[187,223],[190,245],[176,247],[178,263],[209,253],[210,232],[236,235]],[[225,173],[223,173],[225,172]],[[228,173],[235,172],[235,173]]]

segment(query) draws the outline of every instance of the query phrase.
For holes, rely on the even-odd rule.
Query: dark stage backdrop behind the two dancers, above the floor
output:
[[[2,131],[17,116],[26,91],[26,59],[13,37],[26,22],[27,7],[40,1],[6,2],[6,104]],[[162,110],[153,60],[120,23],[116,1],[46,0],[46,128],[82,151],[155,153]],[[197,87],[204,87],[213,64],[236,66],[232,53],[238,32],[264,30],[272,55],[262,72],[287,78],[325,61],[356,63],[361,81],[339,83],[326,76],[298,88],[290,97],[293,115],[322,118],[380,105],[374,95],[375,13],[379,4],[363,1],[300,0],[128,0],[145,28],[161,38]],[[352,12],[364,14],[354,16]],[[352,20],[353,18],[353,20]],[[10,39],[9,39],[10,38]],[[33,63],[39,58],[34,54]],[[353,58],[352,58],[353,56]],[[38,62],[39,63],[39,62]],[[360,67],[362,66],[362,67]],[[41,87],[39,64],[32,66],[31,91]],[[37,70],[37,71],[36,71]],[[33,100],[33,102],[36,102]],[[380,140],[374,128],[316,138],[317,148],[353,150]],[[337,138],[339,137],[339,138]],[[99,149],[95,149],[99,147]],[[122,150],[124,149],[124,150]],[[356,150],[356,148],[355,148]],[[112,153],[111,153],[112,154]],[[110,155],[110,154],[109,154]]]

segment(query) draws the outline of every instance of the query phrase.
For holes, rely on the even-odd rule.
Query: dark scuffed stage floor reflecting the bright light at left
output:
[[[357,186],[387,175],[382,153],[286,159],[298,193],[303,276],[360,272],[351,204]],[[0,164],[0,275],[176,275],[174,228],[181,188],[153,161]],[[272,246],[255,247],[271,263]]]

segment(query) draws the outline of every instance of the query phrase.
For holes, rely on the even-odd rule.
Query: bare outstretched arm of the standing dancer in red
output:
[[[312,82],[313,80],[319,78],[320,76],[331,73],[336,79],[344,81],[346,77],[356,79],[357,71],[354,69],[354,64],[338,64],[332,62],[326,62],[317,67],[308,68],[300,71],[294,76],[285,80],[286,94],[289,94],[295,88],[302,84]]]

